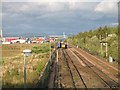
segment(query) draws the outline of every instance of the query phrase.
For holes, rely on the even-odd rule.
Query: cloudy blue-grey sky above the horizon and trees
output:
[[[118,22],[119,0],[2,0],[3,34],[74,35]],[[1,18],[0,18],[1,20]]]

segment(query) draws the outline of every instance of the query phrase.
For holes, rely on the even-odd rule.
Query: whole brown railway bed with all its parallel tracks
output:
[[[74,46],[58,49],[50,88],[117,88],[118,69]]]

